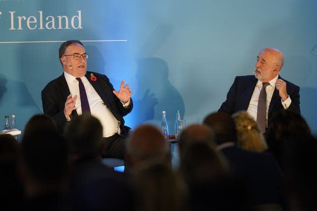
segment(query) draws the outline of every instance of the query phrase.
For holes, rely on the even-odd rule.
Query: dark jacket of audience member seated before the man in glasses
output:
[[[81,158],[71,165],[69,190],[76,211],[133,211],[130,177],[96,160]]]

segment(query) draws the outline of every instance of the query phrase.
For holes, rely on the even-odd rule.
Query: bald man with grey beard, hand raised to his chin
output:
[[[265,125],[262,132],[265,134],[272,116],[284,109],[300,113],[300,88],[281,78],[280,70],[284,64],[282,52],[273,48],[263,49],[257,56],[255,75],[237,76],[230,87],[225,102],[218,111],[225,111],[230,115],[246,110],[257,121],[258,102],[264,83],[266,108]],[[258,121],[257,121],[258,122]]]

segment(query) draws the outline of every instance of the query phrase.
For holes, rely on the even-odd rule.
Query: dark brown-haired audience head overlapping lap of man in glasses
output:
[[[104,147],[103,126],[91,114],[74,116],[65,126],[64,137],[68,151],[73,158],[100,158]]]

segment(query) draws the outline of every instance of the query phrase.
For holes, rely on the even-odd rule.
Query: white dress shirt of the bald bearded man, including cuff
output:
[[[265,117],[265,126],[267,127],[267,113],[268,113],[268,107],[269,104],[271,102],[272,96],[273,96],[273,92],[275,89],[275,85],[276,85],[276,80],[278,78],[278,75],[273,78],[272,80],[270,80],[268,83],[269,85],[267,85],[265,87],[265,91],[266,91],[266,117]],[[260,96],[260,91],[262,89],[262,83],[260,80],[258,80],[256,87],[254,88],[250,103],[249,103],[249,107],[247,109],[247,112],[254,118],[254,120],[257,121],[257,113],[258,113],[258,102],[259,102],[259,96]],[[283,105],[284,109],[288,108],[292,103],[291,98],[288,96],[288,98],[283,102],[281,100],[281,104]]]

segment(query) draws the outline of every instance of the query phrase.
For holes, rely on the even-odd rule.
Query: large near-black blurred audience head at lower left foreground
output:
[[[56,131],[38,131],[25,135],[21,147],[20,163],[27,194],[61,187],[59,185],[65,181],[68,170],[67,147],[63,137]]]

